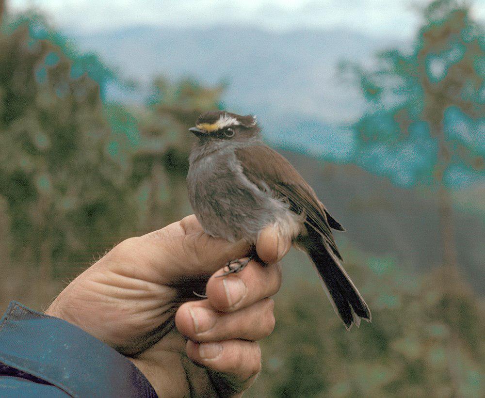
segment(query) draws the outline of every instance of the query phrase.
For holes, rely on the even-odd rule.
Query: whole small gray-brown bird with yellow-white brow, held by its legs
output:
[[[196,136],[189,155],[187,189],[204,232],[256,244],[259,232],[275,225],[293,247],[307,253],[325,293],[350,330],[371,311],[342,267],[332,229],[343,231],[291,163],[261,139],[253,115],[207,111],[189,131]],[[241,271],[250,259],[227,263]]]

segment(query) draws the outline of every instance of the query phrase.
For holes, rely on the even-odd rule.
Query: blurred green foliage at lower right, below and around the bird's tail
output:
[[[346,332],[319,284],[292,282],[276,297],[275,332],[263,342],[263,371],[250,395],[479,396],[485,311],[468,287],[445,293],[441,271],[419,278],[392,258],[362,264],[367,255],[346,257],[354,257],[345,268],[372,308],[372,323]],[[454,318],[450,306],[458,309]]]

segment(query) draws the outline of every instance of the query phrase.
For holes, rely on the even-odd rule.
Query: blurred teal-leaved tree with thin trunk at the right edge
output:
[[[357,163],[401,185],[433,187],[442,262],[453,283],[457,255],[450,190],[485,176],[485,35],[470,19],[469,7],[456,0],[432,2],[423,17],[410,52],[385,51],[372,71],[351,66],[371,104],[354,126]]]

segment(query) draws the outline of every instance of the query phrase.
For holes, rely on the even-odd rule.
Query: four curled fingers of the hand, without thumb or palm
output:
[[[274,228],[267,228],[258,240],[258,255],[267,262],[280,258],[290,248],[291,242],[282,244],[274,234]],[[281,267],[250,261],[240,273],[218,277],[223,272],[210,277],[208,299],[182,304],[175,322],[178,331],[188,338],[187,357],[212,372],[219,380],[215,384],[220,386],[220,393],[231,396],[251,385],[260,371],[261,352],[256,340],[268,336],[275,327],[274,302],[269,297],[281,285]]]

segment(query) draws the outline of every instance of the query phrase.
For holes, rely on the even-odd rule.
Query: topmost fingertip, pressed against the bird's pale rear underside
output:
[[[268,225],[258,236],[256,252],[266,264],[280,261],[291,248],[291,238],[281,234],[277,224]]]

